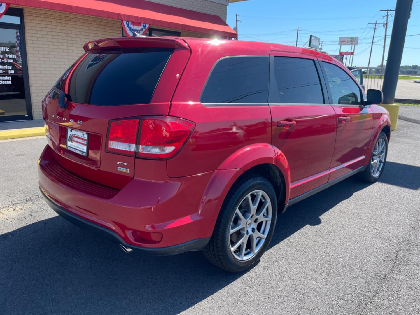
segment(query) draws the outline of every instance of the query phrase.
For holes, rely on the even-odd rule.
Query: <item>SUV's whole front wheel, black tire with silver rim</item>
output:
[[[383,150],[379,151],[379,149]],[[367,164],[364,171],[360,172],[359,179],[368,183],[374,183],[381,177],[383,170],[385,169],[386,156],[388,154],[388,138],[386,134],[381,131],[378,139],[373,147],[372,155],[370,155],[369,164]],[[375,162],[376,161],[376,162]]]

